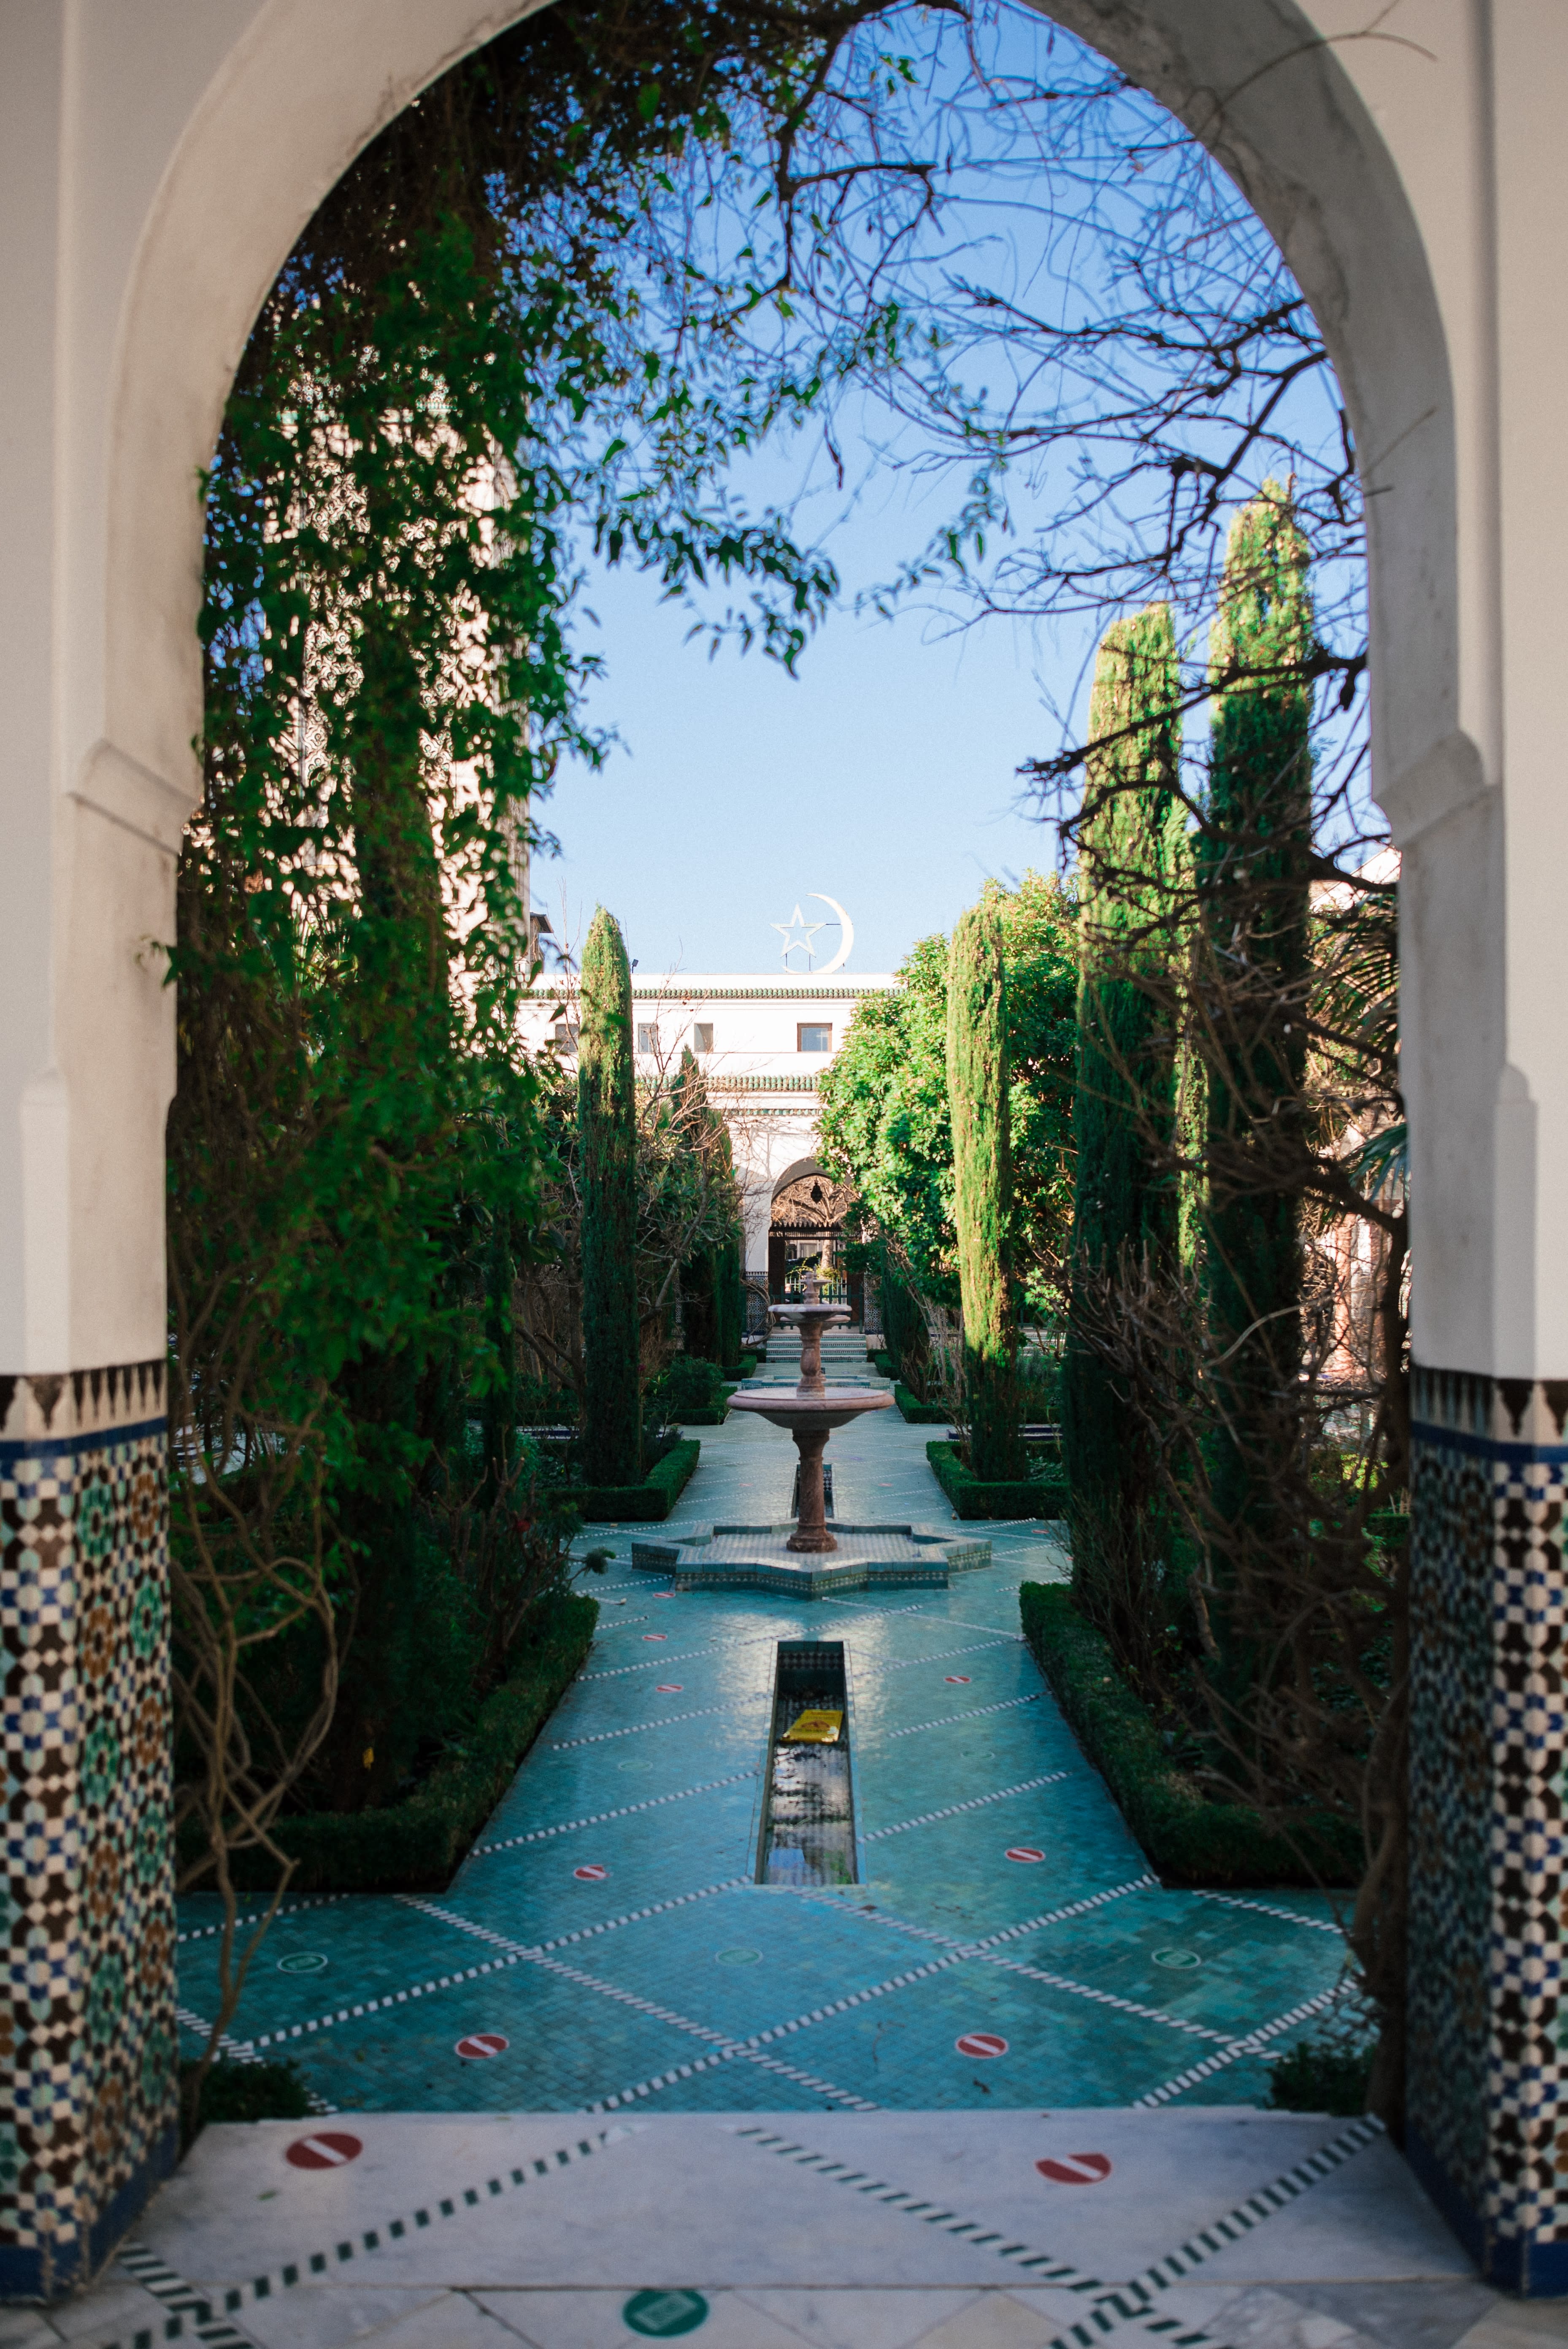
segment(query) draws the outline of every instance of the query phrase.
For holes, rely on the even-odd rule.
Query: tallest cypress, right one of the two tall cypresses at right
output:
[[[1277,1527],[1270,1452],[1300,1377],[1303,1118],[1310,972],[1314,646],[1307,543],[1291,496],[1265,482],[1230,531],[1211,634],[1216,712],[1202,897],[1223,1003],[1209,1052],[1204,1212],[1216,1435],[1211,1499],[1228,1532],[1216,1581]],[[1216,1623],[1232,1677],[1237,1626]]]

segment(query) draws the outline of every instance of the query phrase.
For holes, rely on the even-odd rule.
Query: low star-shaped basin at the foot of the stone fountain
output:
[[[953,1574],[991,1564],[991,1543],[939,1525],[833,1525],[836,1550],[791,1550],[779,1525],[697,1525],[678,1541],[631,1543],[631,1564],[669,1574],[676,1590],[791,1590],[824,1600],[838,1590],[946,1590]]]

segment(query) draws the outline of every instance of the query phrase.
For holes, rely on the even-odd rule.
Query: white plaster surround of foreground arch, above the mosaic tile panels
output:
[[[1336,352],[1371,491],[1376,778],[1406,848],[1418,1351],[1561,1377],[1568,7],[1052,12],[1214,146]],[[0,12],[0,1369],[162,1348],[171,1008],[148,942],[195,794],[197,472],[319,195],[516,14]]]

